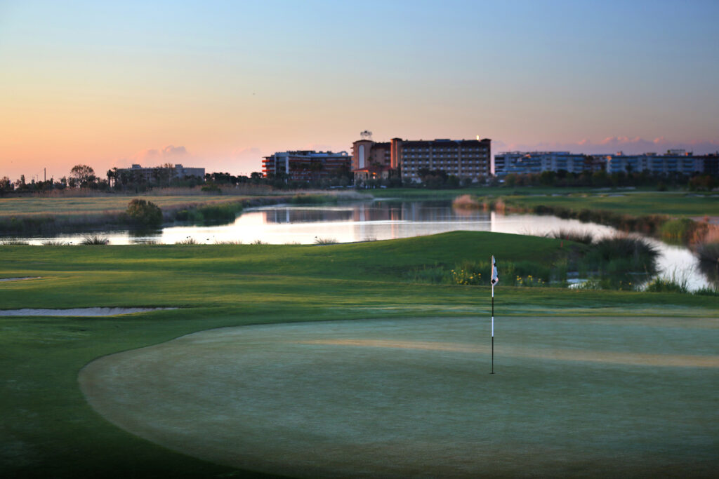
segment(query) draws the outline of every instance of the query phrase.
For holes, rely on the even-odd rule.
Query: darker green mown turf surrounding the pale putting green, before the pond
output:
[[[0,475],[222,475],[101,419],[77,384],[101,355],[211,327],[268,322],[477,315],[489,288],[403,281],[423,265],[550,259],[559,241],[455,232],[329,246],[0,246],[1,309],[181,306],[111,318],[0,317]],[[565,244],[566,247],[566,244]],[[716,317],[715,297],[555,288],[498,289],[498,315]],[[689,320],[689,319],[687,319]],[[671,387],[671,386],[667,386]]]

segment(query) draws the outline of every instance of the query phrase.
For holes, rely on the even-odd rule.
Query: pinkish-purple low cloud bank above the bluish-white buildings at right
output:
[[[498,147],[502,144],[502,147]],[[494,152],[572,152],[586,154],[612,154],[624,152],[626,154],[662,153],[668,149],[684,149],[694,154],[707,154],[719,151],[719,141],[695,140],[695,141],[672,141],[659,136],[652,140],[643,139],[639,136],[608,136],[597,142],[590,139],[581,139],[577,142],[541,142],[533,144],[503,143],[493,141]]]

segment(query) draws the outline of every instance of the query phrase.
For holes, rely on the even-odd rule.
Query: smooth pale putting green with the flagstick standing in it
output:
[[[205,460],[301,477],[719,468],[719,320],[482,318],[208,330],[88,364],[90,404]]]

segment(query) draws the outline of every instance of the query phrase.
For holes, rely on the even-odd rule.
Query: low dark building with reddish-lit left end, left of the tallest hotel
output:
[[[315,152],[298,150],[278,152],[262,159],[262,175],[283,177],[293,181],[322,180],[348,172],[352,157],[347,152]]]

